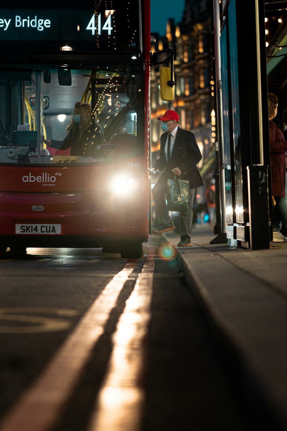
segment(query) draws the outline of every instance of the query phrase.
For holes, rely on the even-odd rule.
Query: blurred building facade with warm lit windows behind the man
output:
[[[211,7],[209,0],[186,0],[182,22],[176,24],[173,19],[169,19],[165,37],[152,34],[156,38],[152,51],[167,47],[173,49],[176,85],[174,100],[162,101],[158,86],[159,69],[152,69],[151,162],[158,157],[160,149],[162,130],[157,117],[167,109],[174,109],[179,113],[180,127],[192,131],[197,140],[202,154],[198,168],[205,183],[209,183],[214,172],[216,141]],[[200,193],[204,194],[204,190],[201,189]]]

